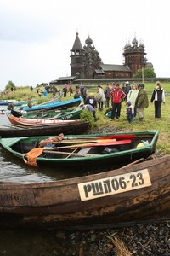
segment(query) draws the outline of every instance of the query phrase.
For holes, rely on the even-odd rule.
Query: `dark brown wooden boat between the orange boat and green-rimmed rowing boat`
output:
[[[2,126],[2,125],[0,125]],[[33,126],[33,127],[22,127],[3,125],[0,128],[0,137],[26,137],[26,136],[54,136],[54,134],[64,133],[64,134],[81,134],[87,132],[89,129],[88,121],[71,122],[65,125],[43,125],[43,126]]]

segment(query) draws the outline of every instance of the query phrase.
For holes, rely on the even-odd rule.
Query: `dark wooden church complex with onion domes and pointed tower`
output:
[[[138,42],[136,37],[132,44],[128,42],[123,48],[124,64],[104,64],[99,57],[99,52],[93,45],[93,40],[88,36],[85,45],[78,36],[71,49],[71,77],[77,79],[117,79],[133,78],[133,75],[143,67],[152,67],[145,57],[144,44]]]

